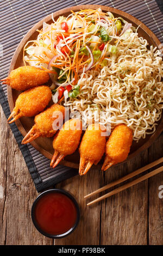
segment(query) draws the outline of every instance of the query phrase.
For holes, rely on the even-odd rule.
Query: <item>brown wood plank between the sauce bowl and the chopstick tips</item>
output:
[[[84,176],[75,176],[58,184],[71,192],[80,206],[80,222],[74,233],[61,240],[55,240],[55,245],[99,245],[101,203],[91,207],[86,206],[84,195],[103,186],[103,176],[98,170],[90,170]]]

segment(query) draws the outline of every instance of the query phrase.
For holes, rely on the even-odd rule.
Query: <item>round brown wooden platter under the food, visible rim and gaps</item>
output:
[[[123,19],[132,23],[133,26],[135,27],[140,25],[138,29],[139,36],[143,36],[143,38],[145,38],[148,41],[149,45],[154,45],[158,47],[161,44],[161,42],[159,41],[158,38],[156,38],[153,32],[149,28],[147,28],[141,21],[137,20],[135,17],[127,13],[124,13],[121,10],[117,10],[111,7],[105,7],[103,5],[78,5],[75,7],[65,8],[65,9],[56,11],[55,13],[53,13],[53,17],[56,20],[61,15],[68,16],[71,13],[71,10],[78,11],[80,9],[97,9],[99,7],[101,7],[101,9],[104,12],[111,11],[111,13],[114,14],[115,17],[123,17]],[[36,25],[32,29],[30,29],[30,31],[24,36],[24,38],[21,40],[20,44],[18,45],[14,53],[14,56],[12,57],[9,72],[11,72],[11,70],[13,69],[18,68],[19,66],[24,65],[23,58],[22,58],[23,47],[27,41],[34,40],[37,38],[38,33],[36,32],[36,29],[42,28],[43,21],[45,21],[46,23],[52,23],[53,22],[52,15],[48,15],[44,19],[36,23]],[[12,111],[12,109],[15,106],[15,101],[18,97],[18,94],[20,94],[20,92],[17,92],[16,90],[11,89],[11,87],[8,86],[8,100],[9,100],[10,111]],[[33,124],[34,124],[34,118],[23,117],[20,120],[16,121],[16,125],[23,136],[27,134],[27,132],[31,129]],[[142,150],[147,149],[155,141],[155,139],[160,135],[162,130],[163,130],[163,115],[158,125],[156,126],[156,131],[153,133],[153,135],[148,135],[146,136],[145,139],[140,139],[138,143],[133,142],[130,149],[130,154],[127,160],[131,159],[136,154],[140,153]],[[41,154],[45,155],[48,159],[52,159],[53,152],[54,152],[52,141],[53,141],[53,138],[40,137],[35,139],[35,141],[31,142],[31,144]],[[73,155],[65,157],[64,161],[61,161],[61,164],[68,167],[72,167],[72,168],[79,168],[79,159],[80,157],[77,150]],[[100,169],[103,163],[103,159],[101,160],[101,162],[99,162],[97,166],[93,166],[93,168]]]

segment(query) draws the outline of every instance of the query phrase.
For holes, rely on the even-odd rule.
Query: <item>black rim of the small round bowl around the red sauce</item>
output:
[[[47,194],[49,193],[61,193],[61,194],[64,194],[65,196],[67,196],[69,199],[72,200],[76,210],[77,210],[77,217],[76,217],[76,222],[74,223],[73,227],[71,227],[68,231],[66,231],[65,233],[63,234],[48,234],[46,233],[46,231],[42,230],[40,225],[37,223],[36,221],[36,218],[35,218],[35,209],[36,209],[36,205],[37,203],[39,202],[39,200],[46,196]],[[32,205],[32,210],[31,210],[31,216],[32,216],[32,221],[35,225],[35,228],[42,234],[42,235],[45,235],[47,237],[51,237],[53,239],[59,239],[59,238],[62,238],[62,237],[65,237],[67,235],[70,235],[74,229],[77,227],[78,223],[79,223],[79,219],[80,219],[80,211],[79,211],[79,205],[76,201],[76,199],[74,199],[74,197],[68,193],[67,191],[65,190],[60,190],[60,189],[57,189],[57,188],[54,188],[54,189],[51,189],[51,190],[47,190],[45,192],[42,192],[34,201],[33,205]]]

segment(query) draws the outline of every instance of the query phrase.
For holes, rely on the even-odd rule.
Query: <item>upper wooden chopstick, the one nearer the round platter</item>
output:
[[[122,177],[121,179],[113,181],[110,184],[105,185],[105,186],[99,188],[98,190],[95,190],[95,191],[91,192],[90,194],[87,194],[84,198],[91,197],[94,194],[97,194],[99,192],[107,190],[108,188],[113,187],[113,186],[115,186],[117,184],[120,184],[121,182],[126,181],[126,180],[128,180],[128,179],[130,179],[130,178],[132,178],[132,177],[134,177],[134,176],[136,176],[138,174],[140,174],[140,173],[143,173],[143,172],[145,172],[145,170],[148,170],[148,169],[150,169],[150,168],[152,168],[152,167],[154,167],[154,166],[156,166],[156,165],[158,165],[159,163],[162,163],[162,162],[163,162],[163,157],[161,157],[160,159],[158,159],[158,160],[156,160],[156,161],[154,161],[152,163],[147,164],[146,166],[144,166],[144,167],[142,167],[142,168],[140,168],[138,170],[135,170],[135,172],[129,173],[128,175]]]

